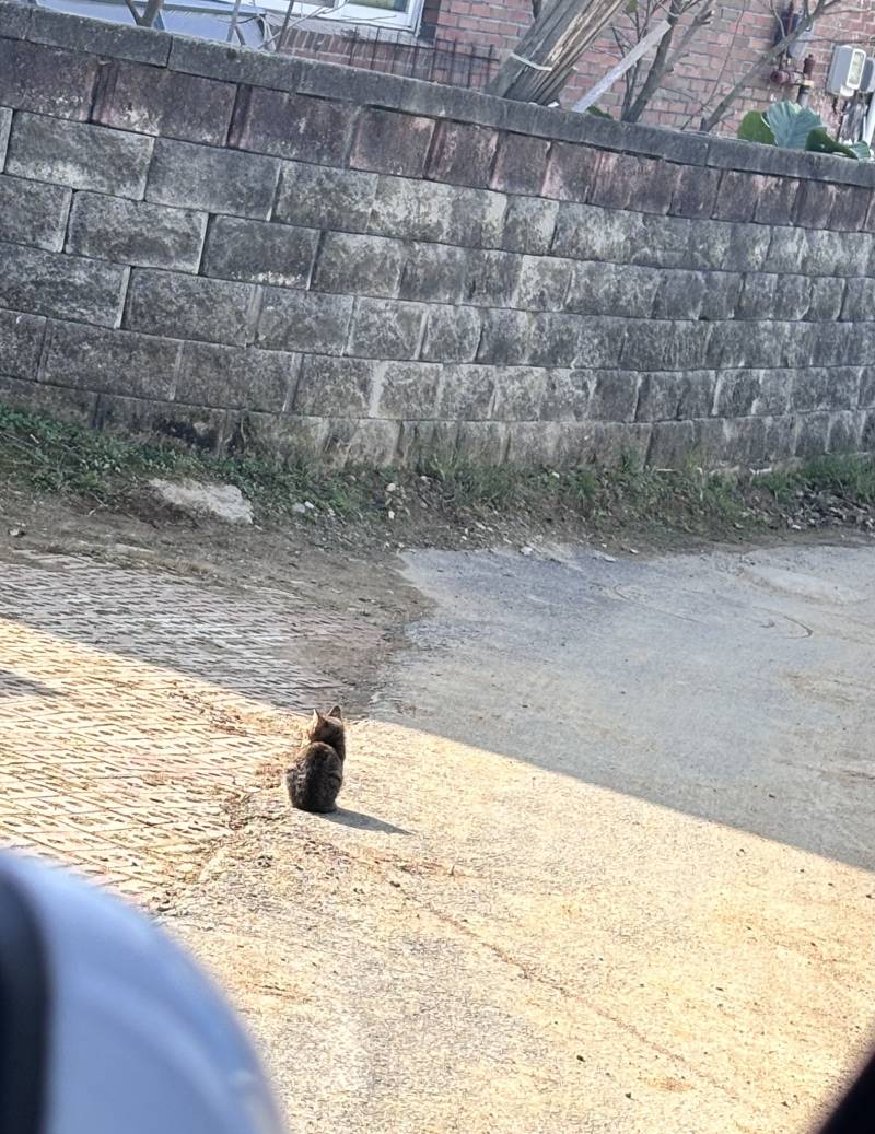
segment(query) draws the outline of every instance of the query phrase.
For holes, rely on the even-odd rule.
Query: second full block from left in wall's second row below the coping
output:
[[[278,177],[274,158],[158,138],[146,200],[267,220]]]

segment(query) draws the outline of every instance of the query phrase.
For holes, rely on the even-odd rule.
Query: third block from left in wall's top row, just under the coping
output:
[[[279,158],[342,166],[359,108],[259,86],[241,87],[229,144]]]

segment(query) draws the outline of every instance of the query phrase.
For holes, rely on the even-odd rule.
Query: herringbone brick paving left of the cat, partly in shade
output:
[[[285,591],[58,555],[0,562],[0,840],[160,900],[294,743],[274,706],[333,696],[302,657],[342,632]]]

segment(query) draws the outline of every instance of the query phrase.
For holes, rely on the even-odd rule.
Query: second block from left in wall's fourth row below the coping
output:
[[[251,284],[135,268],[124,327],[145,335],[242,346],[251,338],[256,296]]]

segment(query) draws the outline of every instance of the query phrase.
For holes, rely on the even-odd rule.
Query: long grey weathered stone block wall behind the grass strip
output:
[[[872,449],[873,183],[0,3],[0,397],[378,463]]]

